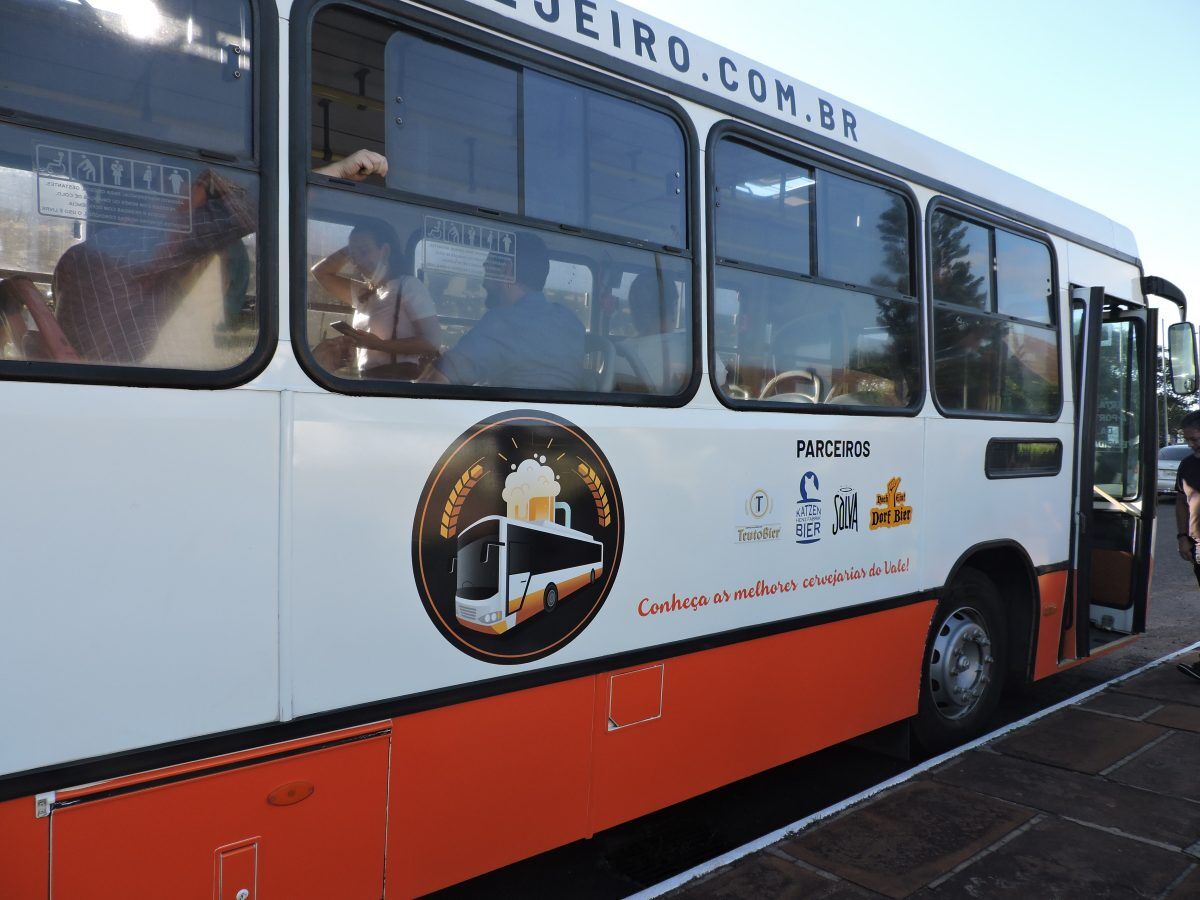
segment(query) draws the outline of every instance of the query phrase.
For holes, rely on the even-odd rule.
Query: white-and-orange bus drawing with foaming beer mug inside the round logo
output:
[[[524,460],[504,480],[508,515],[485,516],[458,535],[455,614],[476,631],[504,634],[604,572],[604,545],[571,528],[571,506],[546,457]]]

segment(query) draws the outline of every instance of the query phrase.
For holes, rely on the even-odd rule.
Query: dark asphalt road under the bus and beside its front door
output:
[[[1200,589],[1175,547],[1172,500],[1159,506],[1147,634],[1006,696],[998,728],[1200,641]],[[916,761],[912,761],[916,762]],[[614,900],[852,797],[912,762],[839,745],[440,892],[439,898],[524,898],[569,892]]]

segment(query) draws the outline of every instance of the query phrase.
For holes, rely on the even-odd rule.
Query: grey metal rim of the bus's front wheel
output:
[[[977,610],[964,606],[942,622],[929,654],[929,689],[947,719],[970,715],[988,691],[996,660]]]

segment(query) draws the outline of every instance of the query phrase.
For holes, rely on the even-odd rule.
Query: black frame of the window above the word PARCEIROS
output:
[[[788,160],[792,160],[800,166],[808,166],[814,170],[812,214],[810,216],[809,230],[810,271],[814,272],[812,275],[798,275],[786,270],[751,265],[736,260],[721,263],[716,258],[716,194],[712,188],[716,185],[715,168],[718,144],[721,140],[728,139],[746,144],[751,148],[761,149],[763,152],[773,156],[787,157]],[[870,169],[864,169],[859,166],[846,162],[845,160],[814,150],[812,148],[794,139],[754,128],[732,119],[722,120],[709,130],[708,142],[706,145],[704,166],[707,185],[709,187],[709,190],[704,192],[704,247],[707,256],[706,286],[708,288],[708,301],[706,304],[708,346],[706,352],[708,354],[708,378],[718,401],[720,401],[720,403],[728,409],[760,413],[784,412],[798,415],[853,415],[866,418],[907,419],[920,415],[920,410],[925,406],[925,397],[928,394],[925,385],[928,380],[926,332],[929,330],[929,317],[925,311],[924,296],[922,295],[922,292],[925,289],[925,283],[918,277],[920,260],[924,258],[923,241],[925,239],[925,234],[919,226],[918,211],[920,209],[920,204],[913,188],[907,182],[900,181],[899,179],[894,179],[889,175],[872,172]],[[874,187],[882,187],[884,190],[893,191],[905,200],[905,205],[908,209],[908,234],[911,241],[908,251],[908,283],[912,286],[913,290],[911,295],[900,294],[898,292],[871,290],[869,286],[830,281],[816,275],[816,272],[820,271],[820,248],[817,246],[817,216],[820,215],[820,209],[817,203],[816,182],[820,181],[822,169],[826,169],[835,175],[841,175],[842,178],[862,181]],[[852,290],[866,296],[887,296],[889,299],[911,301],[917,310],[917,328],[916,334],[913,335],[913,340],[916,342],[913,355],[917,360],[917,372],[913,384],[913,397],[910,404],[906,407],[858,407],[838,406],[835,403],[788,403],[770,400],[738,400],[736,397],[726,396],[726,394],[721,390],[721,386],[716,383],[716,377],[714,374],[716,371],[716,269],[719,264],[728,269],[740,269],[773,277],[785,277],[790,281],[800,283],[822,284],[841,290]]]

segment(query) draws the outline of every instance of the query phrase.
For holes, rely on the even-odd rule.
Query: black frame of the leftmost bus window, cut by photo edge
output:
[[[83,122],[0,109],[0,127],[34,130],[66,138],[96,140],[134,151],[163,154],[202,166],[236,169],[258,179],[256,230],[256,307],[258,341],[245,360],[232,368],[197,370],[130,366],[107,362],[0,360],[0,382],[103,384],[128,388],[223,390],[244,385],[266,368],[278,344],[278,8],[275,0],[245,0],[251,14],[251,154],[246,157],[186,148],[152,138],[96,128]]]

